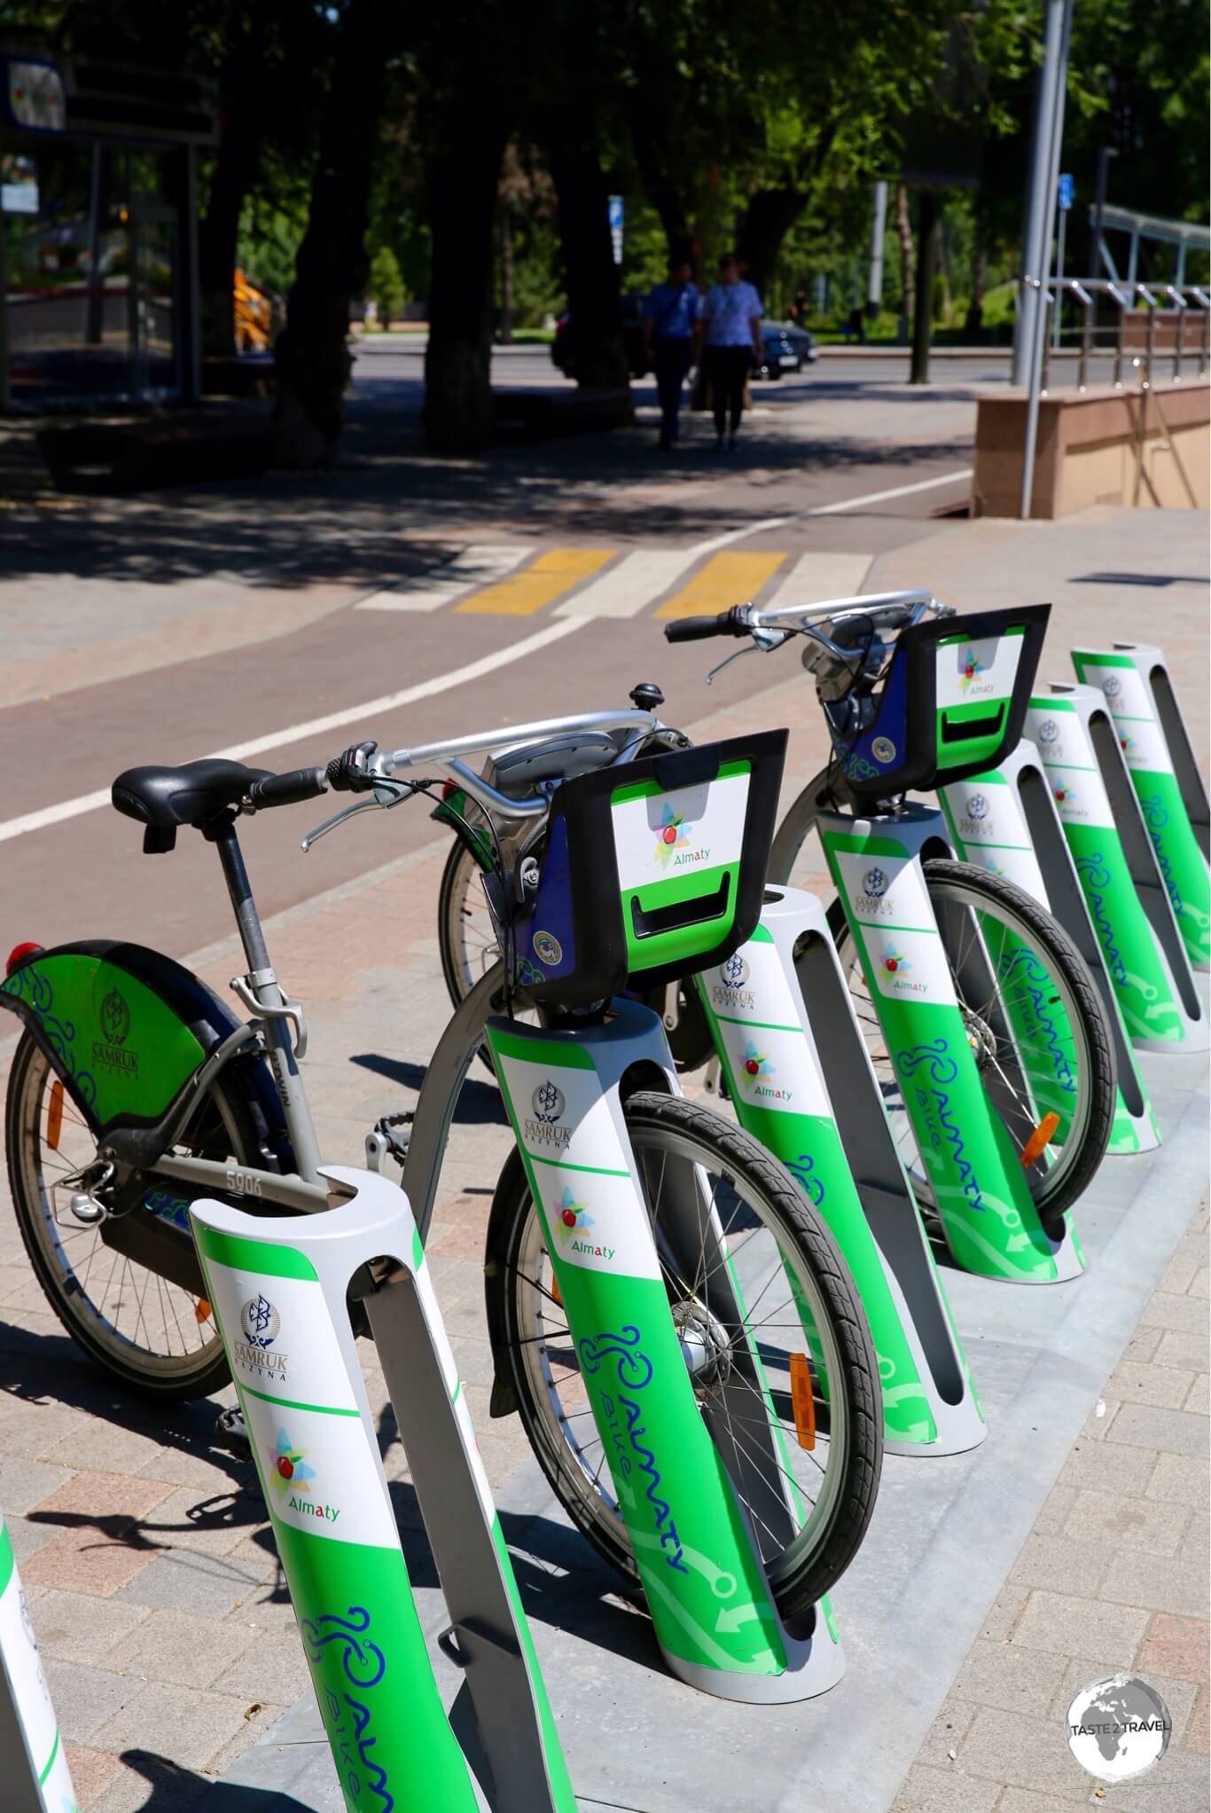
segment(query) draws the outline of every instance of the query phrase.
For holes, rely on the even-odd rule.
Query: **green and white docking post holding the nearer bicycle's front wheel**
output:
[[[656,1015],[629,1001],[615,1010],[607,1024],[575,1032],[486,1026],[587,1409],[673,1673],[722,1699],[807,1699],[845,1668],[828,1603],[787,1630],[745,1514],[789,1543],[803,1507],[772,1412],[760,1436],[751,1416],[754,1391],[769,1403],[756,1343],[732,1349],[732,1376],[698,1403],[694,1336],[669,1313],[620,1095],[636,1064],[656,1064],[671,1093],[680,1093],[676,1071]],[[687,1307],[743,1327],[718,1215],[698,1173],[674,1169],[685,1188],[662,1206],[662,1240],[687,1256],[700,1246],[702,1256],[680,1269],[709,1278],[687,1293]],[[743,1447],[729,1440],[732,1411]]]

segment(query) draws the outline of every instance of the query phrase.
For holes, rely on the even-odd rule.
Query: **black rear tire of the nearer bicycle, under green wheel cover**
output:
[[[227,1365],[227,1356],[219,1345],[218,1354],[199,1367],[196,1374],[181,1372],[174,1380],[154,1380],[138,1367],[123,1367],[116,1356],[98,1342],[91,1333],[85,1318],[76,1318],[73,1314],[71,1296],[65,1296],[60,1289],[60,1276],[51,1262],[47,1260],[42,1242],[34,1231],[34,1217],[40,1213],[36,1206],[29,1204],[25,1198],[25,1178],[20,1164],[20,1155],[15,1151],[15,1140],[20,1139],[20,1095],[25,1088],[25,1079],[29,1075],[29,1066],[34,1055],[40,1053],[40,1046],[29,1032],[22,1033],[22,1039],[13,1053],[13,1066],[9,1070],[9,1088],[5,1097],[5,1122],[4,1122],[4,1149],[9,1171],[9,1191],[13,1197],[13,1213],[16,1215],[16,1226],[22,1235],[22,1246],[34,1271],[42,1293],[47,1298],[51,1309],[62,1322],[63,1329],[76,1342],[78,1347],[111,1378],[118,1380],[127,1391],[134,1391],[143,1398],[150,1398],[156,1403],[185,1403],[196,1398],[208,1398],[216,1391],[221,1391],[230,1383],[230,1371]],[[210,1093],[221,1097],[232,1128],[237,1129],[234,1144],[243,1146],[241,1151],[230,1153],[237,1164],[256,1166],[259,1160],[259,1140],[256,1133],[256,1124],[247,1104],[228,1088],[223,1086],[219,1077]],[[154,1177],[154,1173],[149,1173]]]

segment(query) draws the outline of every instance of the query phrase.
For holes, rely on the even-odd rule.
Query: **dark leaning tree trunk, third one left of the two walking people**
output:
[[[277,335],[277,462],[335,466],[352,370],[350,303],[366,281],[366,212],[386,63],[401,29],[392,0],[350,0],[341,27],[306,234]]]

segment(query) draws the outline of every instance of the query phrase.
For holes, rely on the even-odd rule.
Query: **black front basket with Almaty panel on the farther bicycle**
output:
[[[1024,604],[905,629],[874,722],[834,738],[850,790],[886,800],[995,767],[1022,734],[1050,613]]]

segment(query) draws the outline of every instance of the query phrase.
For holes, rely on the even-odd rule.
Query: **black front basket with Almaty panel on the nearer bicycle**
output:
[[[722,963],[756,930],[787,731],[644,756],[551,800],[515,979],[576,1006]]]

